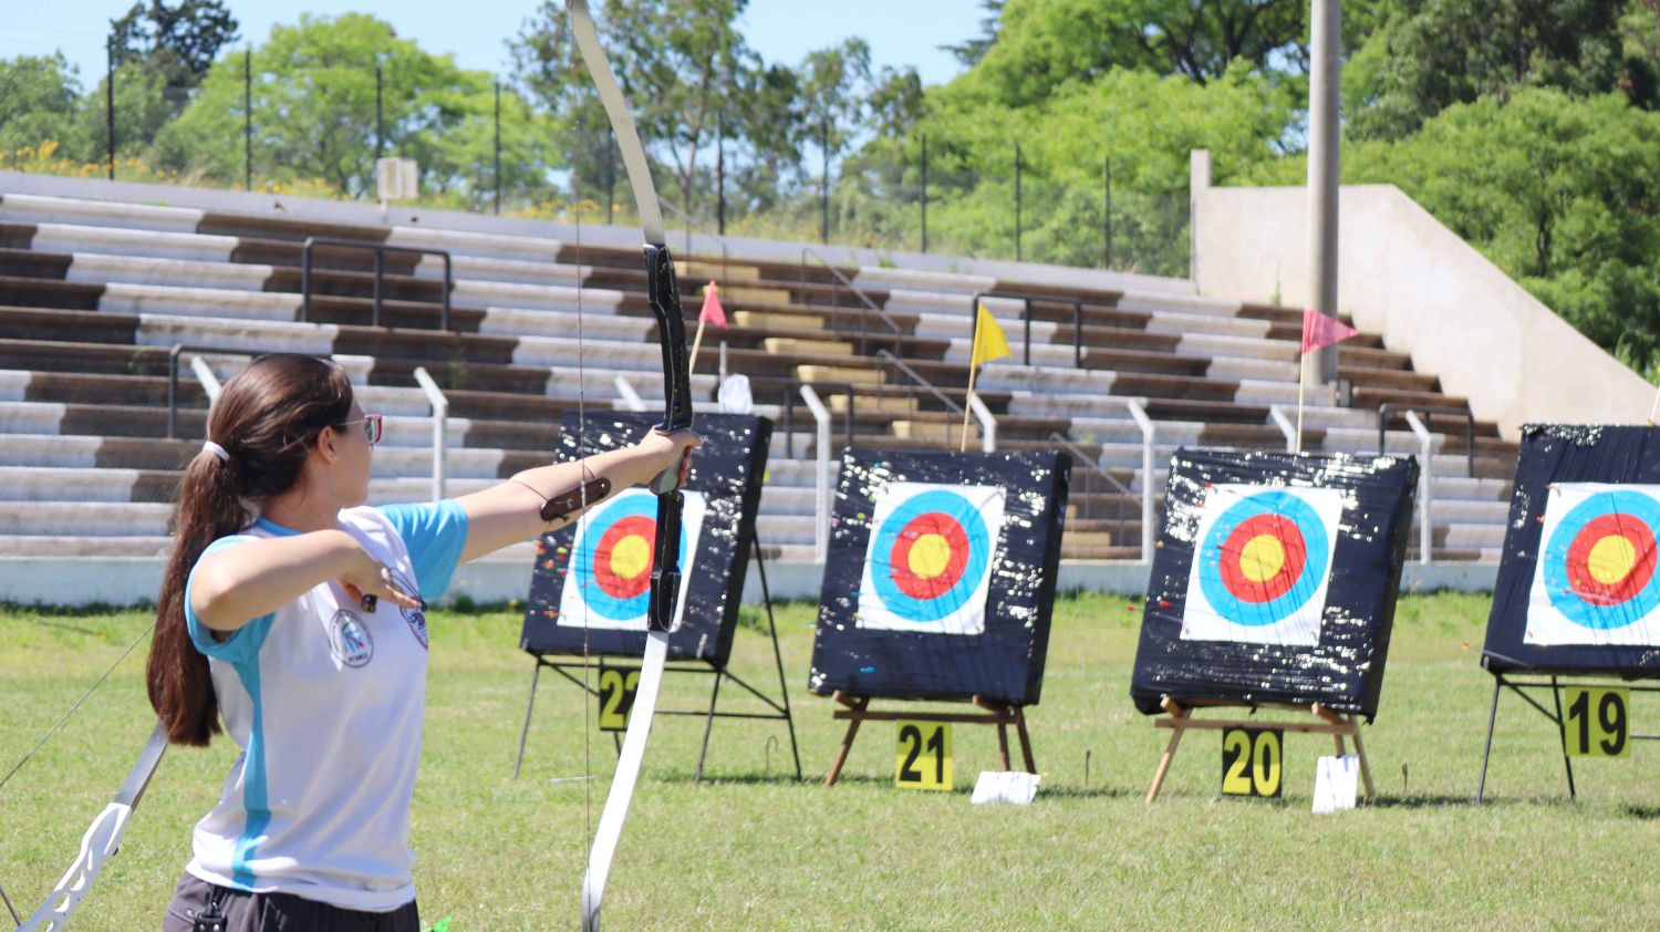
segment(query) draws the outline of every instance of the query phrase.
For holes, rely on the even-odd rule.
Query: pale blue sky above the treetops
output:
[[[103,43],[110,20],[134,0],[3,0],[0,56],[46,55],[61,48],[80,66],[90,86],[103,75]],[[412,3],[408,0],[307,0],[302,5],[272,0],[229,0],[242,23],[242,38],[264,40],[272,23],[294,22],[300,8],[319,15],[374,13],[428,52],[450,52],[463,68],[505,71],[505,40],[518,33],[538,0],[466,0],[465,3]],[[465,10],[458,15],[458,10]],[[911,65],[925,83],[951,80],[959,66],[940,45],[959,43],[979,33],[978,0],[750,0],[742,17],[744,35],[769,61],[795,63],[813,48],[860,35],[881,65]]]

